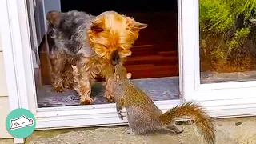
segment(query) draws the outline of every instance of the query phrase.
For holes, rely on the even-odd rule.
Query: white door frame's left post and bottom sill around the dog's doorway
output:
[[[1,2],[3,5],[0,9],[4,16],[1,21],[2,47],[11,110],[26,108],[32,111],[37,121],[36,130],[127,123],[126,119],[119,120],[113,103],[38,109],[26,0]],[[161,110],[168,110],[180,103],[180,100],[155,103]]]

